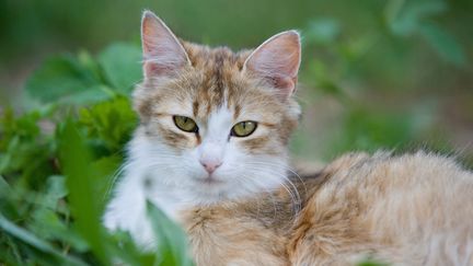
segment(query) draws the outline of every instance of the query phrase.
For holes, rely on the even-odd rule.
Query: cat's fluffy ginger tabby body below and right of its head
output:
[[[446,178],[452,174],[458,180]],[[473,263],[472,175],[449,159],[348,154],[293,182],[303,195],[297,215],[282,188],[184,211],[197,264],[354,265],[368,256],[393,265]]]

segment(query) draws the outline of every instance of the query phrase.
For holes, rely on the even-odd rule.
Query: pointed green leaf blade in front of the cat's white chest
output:
[[[157,239],[157,251],[161,255],[158,265],[193,265],[184,231],[152,203],[147,203],[147,210]]]

